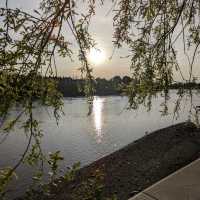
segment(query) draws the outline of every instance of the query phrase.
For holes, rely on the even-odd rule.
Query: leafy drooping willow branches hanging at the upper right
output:
[[[174,81],[174,73],[182,81],[195,77],[193,65],[200,43],[200,3],[195,0],[116,1],[114,9],[114,45],[130,48],[133,83],[128,92],[135,107],[154,91],[166,91]],[[188,59],[180,67],[178,54],[184,49]],[[189,57],[189,54],[192,56]],[[189,71],[184,76],[183,71]]]

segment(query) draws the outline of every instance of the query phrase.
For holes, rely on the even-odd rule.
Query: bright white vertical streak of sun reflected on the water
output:
[[[96,130],[96,139],[98,143],[101,143],[103,138],[102,132],[102,121],[103,121],[103,105],[105,99],[95,97],[93,100],[93,118],[94,118],[94,126]]]

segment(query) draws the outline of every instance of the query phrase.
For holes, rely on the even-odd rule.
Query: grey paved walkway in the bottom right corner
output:
[[[200,200],[200,159],[129,200]]]

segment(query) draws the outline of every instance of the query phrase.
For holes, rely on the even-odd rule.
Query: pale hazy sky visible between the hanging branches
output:
[[[80,0],[77,0],[80,1]],[[23,8],[27,11],[31,11],[38,7],[38,3],[40,0],[9,0],[9,7],[18,7]],[[104,6],[97,5],[96,15],[92,18],[90,32],[93,38],[98,43],[98,48],[102,50],[105,54],[105,60],[101,64],[93,66],[93,74],[95,77],[106,77],[110,78],[114,75],[130,75],[130,61],[129,59],[120,58],[121,56],[128,55],[128,49],[122,48],[120,50],[116,50],[112,59],[109,57],[113,52],[113,44],[112,44],[112,12],[108,14],[108,11],[111,9],[112,2],[111,0],[105,1]],[[5,6],[5,0],[0,0],[0,7]],[[68,38],[71,38],[72,35],[67,35]],[[178,42],[178,49],[183,49],[183,45],[181,40]],[[57,66],[60,75],[63,76],[78,76],[80,73],[78,68],[80,67],[80,63],[77,60],[76,47],[74,47],[74,56],[73,62],[71,62],[68,58],[61,59],[57,57]],[[188,63],[186,56],[183,51],[179,51],[178,59],[180,62],[180,66],[182,68],[183,74],[186,76],[188,74]],[[194,64],[194,71],[197,76],[199,76],[199,59]],[[175,79],[180,79],[180,75],[175,74]]]

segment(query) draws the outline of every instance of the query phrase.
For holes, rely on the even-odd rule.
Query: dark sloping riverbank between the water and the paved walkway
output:
[[[91,187],[96,184],[87,180],[94,178],[94,172],[98,170],[104,174],[101,180],[103,196],[110,197],[115,194],[118,200],[127,200],[195,160],[199,157],[199,152],[200,131],[194,124],[170,126],[152,132],[80,169],[76,179],[70,184],[61,179],[48,199],[78,199],[73,196],[77,192],[80,195],[83,183],[89,183]],[[82,192],[85,195],[85,191]]]

